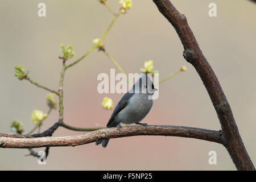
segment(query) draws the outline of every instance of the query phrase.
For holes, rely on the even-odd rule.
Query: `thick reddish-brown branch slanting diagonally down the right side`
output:
[[[174,26],[184,47],[183,56],[185,60],[195,67],[201,80],[204,82],[221,123],[223,144],[237,169],[255,170],[243,145],[228,100],[222,91],[213,69],[210,67],[207,59],[205,59],[191,28],[188,26],[187,18],[185,15],[179,13],[169,0],[153,1],[160,13]]]

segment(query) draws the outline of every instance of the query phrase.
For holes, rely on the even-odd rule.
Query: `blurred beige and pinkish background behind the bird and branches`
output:
[[[38,16],[38,4],[46,3],[46,17]],[[217,5],[210,18],[208,5]],[[109,0],[117,12],[118,0]],[[243,143],[256,163],[255,42],[256,4],[246,0],[172,0],[185,14],[205,57],[216,73],[240,131]],[[99,38],[113,15],[96,0],[0,1],[0,133],[11,133],[14,119],[24,123],[24,133],[34,127],[34,109],[47,112],[48,92],[30,82],[19,81],[14,67],[21,64],[32,80],[58,89],[60,44],[71,44],[76,53],[69,63],[84,55]],[[164,78],[185,65],[187,72],[159,87],[159,98],[144,118],[148,125],[179,125],[220,130],[214,107],[203,82],[182,54],[183,46],[170,23],[152,1],[133,1],[104,39],[106,50],[126,73],[139,73],[144,61]],[[64,122],[77,127],[105,126],[112,111],[102,108],[102,98],[114,105],[123,94],[99,94],[99,73],[110,74],[113,63],[94,50],[81,63],[68,69],[64,80]],[[118,70],[116,69],[116,73]],[[57,97],[55,97],[57,99]],[[54,110],[42,130],[58,119]],[[78,135],[60,127],[53,135]],[[36,151],[44,148],[35,149]],[[209,165],[208,152],[217,152],[217,164]],[[51,147],[46,165],[39,165],[27,149],[0,148],[1,170],[235,170],[221,144],[179,137],[127,137],[111,139],[107,148],[95,143],[76,147]]]

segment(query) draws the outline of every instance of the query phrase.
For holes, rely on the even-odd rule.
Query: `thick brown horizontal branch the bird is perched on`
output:
[[[0,134],[0,148],[38,148],[38,147],[57,147],[57,146],[78,146],[81,144],[96,142],[105,138],[131,137],[138,135],[160,135],[196,138],[208,140],[210,142],[222,143],[221,132],[198,129],[185,126],[129,126],[123,127],[121,132],[116,128],[101,129],[77,136],[68,137],[40,137],[40,138],[14,138]],[[26,136],[25,136],[26,137]]]

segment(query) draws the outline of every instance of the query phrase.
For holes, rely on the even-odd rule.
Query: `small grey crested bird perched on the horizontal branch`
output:
[[[121,123],[135,123],[145,126],[146,129],[148,126],[147,123],[140,122],[150,111],[153,105],[152,95],[156,90],[158,89],[154,88],[150,77],[148,77],[146,73],[141,73],[131,90],[129,90],[129,92],[121,98],[117,106],[115,106],[106,127],[117,127],[117,129],[121,131]],[[109,139],[96,141],[96,145],[102,144],[104,148],[108,143]]]

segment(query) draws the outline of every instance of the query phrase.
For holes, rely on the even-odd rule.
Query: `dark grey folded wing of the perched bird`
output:
[[[117,106],[115,106],[115,109],[109,119],[109,122],[107,124],[107,127],[115,127],[115,124],[117,123],[114,123],[114,116],[116,114],[118,114],[123,108],[125,108],[128,104],[128,101],[129,99],[133,96],[134,93],[129,93],[127,92],[122,98],[121,100],[118,102]],[[117,125],[116,125],[117,126]]]

